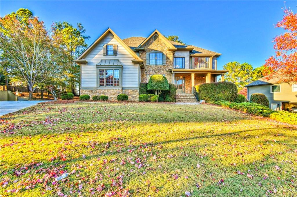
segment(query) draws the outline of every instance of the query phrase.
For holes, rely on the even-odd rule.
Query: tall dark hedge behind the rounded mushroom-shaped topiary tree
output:
[[[154,90],[147,89],[148,83],[140,83],[139,94],[154,94]],[[175,102],[176,101],[176,86],[169,83],[169,91],[164,90],[159,96],[159,101]]]

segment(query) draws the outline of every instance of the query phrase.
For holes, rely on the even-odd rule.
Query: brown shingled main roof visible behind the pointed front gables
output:
[[[129,38],[123,39],[124,43],[126,43],[131,49],[138,48],[138,46],[140,46],[141,43],[144,43],[145,40],[147,40],[147,38],[139,37],[139,36],[129,37]],[[167,41],[169,41],[176,49],[189,49],[190,50],[190,55],[216,55],[216,56],[222,55],[220,53],[210,51],[210,50],[207,50],[207,49],[203,49],[203,48],[200,48],[200,47],[197,47],[197,46],[184,45],[184,44],[174,42],[174,41],[171,41],[171,40],[167,40]]]

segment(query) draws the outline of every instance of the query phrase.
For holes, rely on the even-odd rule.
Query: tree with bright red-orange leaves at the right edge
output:
[[[284,17],[275,27],[285,29],[285,33],[274,38],[275,56],[266,60],[266,75],[276,71],[282,82],[297,81],[297,14],[292,10],[285,9]],[[268,75],[269,79],[272,76]]]

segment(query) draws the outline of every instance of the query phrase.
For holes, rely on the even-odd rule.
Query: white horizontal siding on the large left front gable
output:
[[[103,56],[103,46],[105,44],[117,44],[118,53],[114,55]],[[97,87],[97,67],[96,64],[101,59],[119,59],[123,65],[122,70],[122,88],[138,88],[139,83],[139,64],[134,64],[134,57],[113,37],[108,34],[92,51],[87,54],[85,59],[87,64],[81,65],[81,87],[96,88]]]

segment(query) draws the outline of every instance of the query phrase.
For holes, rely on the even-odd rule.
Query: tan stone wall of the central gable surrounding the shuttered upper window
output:
[[[173,52],[168,51],[167,44],[159,39],[154,41],[151,38],[144,46],[144,51],[139,52],[139,56],[143,59],[144,68],[141,69],[141,82],[147,83],[151,75],[165,75],[169,83],[172,83],[172,74],[168,69],[172,69],[173,65]],[[146,53],[150,51],[161,51],[166,54],[166,65],[146,65]]]

